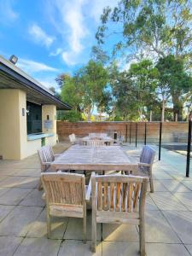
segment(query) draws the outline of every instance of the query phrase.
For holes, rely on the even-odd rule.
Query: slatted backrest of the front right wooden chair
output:
[[[93,175],[91,177],[92,208],[101,214],[108,212],[108,218],[114,212],[139,212],[143,210],[141,207],[145,202],[147,186],[148,177]]]

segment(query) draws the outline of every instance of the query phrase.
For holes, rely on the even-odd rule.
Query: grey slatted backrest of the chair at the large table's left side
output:
[[[49,165],[46,165],[44,163],[52,162],[55,160],[52,147],[50,145],[47,145],[38,149],[38,159],[40,160],[42,171],[45,171],[47,168],[49,168]]]

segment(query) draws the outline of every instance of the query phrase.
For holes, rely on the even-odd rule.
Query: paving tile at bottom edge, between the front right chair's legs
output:
[[[127,241],[103,241],[102,256],[139,256],[139,243]]]

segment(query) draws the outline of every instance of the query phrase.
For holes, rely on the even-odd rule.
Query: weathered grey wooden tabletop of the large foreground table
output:
[[[119,146],[73,145],[56,158],[51,167],[55,170],[137,172],[137,164]]]

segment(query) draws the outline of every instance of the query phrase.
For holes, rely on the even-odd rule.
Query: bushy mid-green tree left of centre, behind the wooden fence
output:
[[[102,63],[89,61],[73,77],[64,76],[62,79],[62,100],[68,102],[76,113],[84,113],[89,121],[94,108],[108,104],[108,71]]]

